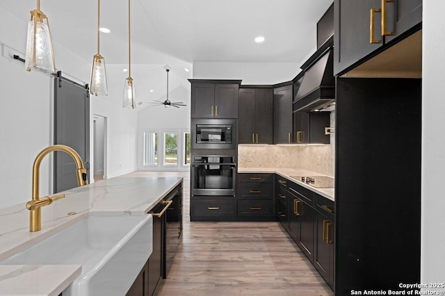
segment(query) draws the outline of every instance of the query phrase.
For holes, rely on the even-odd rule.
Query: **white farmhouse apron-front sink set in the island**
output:
[[[88,213],[3,265],[81,264],[63,296],[125,295],[152,254],[152,215]]]

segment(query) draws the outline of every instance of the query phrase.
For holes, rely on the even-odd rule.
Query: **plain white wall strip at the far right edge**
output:
[[[421,283],[445,279],[444,10],[423,1]]]

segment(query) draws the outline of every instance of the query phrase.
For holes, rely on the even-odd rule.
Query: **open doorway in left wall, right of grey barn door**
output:
[[[106,117],[93,115],[93,178],[95,182],[106,179]]]

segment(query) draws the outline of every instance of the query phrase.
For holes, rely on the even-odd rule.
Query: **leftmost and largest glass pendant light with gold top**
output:
[[[31,21],[28,22],[25,67],[26,71],[56,73],[48,18],[40,10],[40,0],[37,0],[37,9],[31,11]]]

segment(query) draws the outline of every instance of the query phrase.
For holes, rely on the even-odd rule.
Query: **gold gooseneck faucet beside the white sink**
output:
[[[33,164],[33,199],[31,202],[26,203],[26,208],[30,211],[29,231],[31,232],[42,229],[42,206],[48,206],[55,200],[65,197],[63,193],[60,195],[54,195],[52,197],[42,197],[41,199],[39,197],[40,163],[42,163],[44,156],[47,156],[47,154],[52,151],[63,151],[69,154],[74,159],[74,163],[76,163],[77,183],[79,183],[79,186],[88,185],[88,179],[86,176],[85,167],[83,167],[82,158],[74,149],[65,145],[52,145],[40,151],[40,153],[35,157]]]

